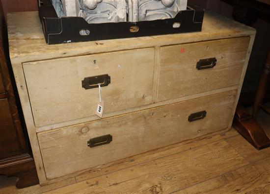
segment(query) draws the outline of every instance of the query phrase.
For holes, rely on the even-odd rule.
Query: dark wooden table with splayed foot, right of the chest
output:
[[[257,18],[264,17],[270,21],[270,0],[224,0],[234,6],[233,17],[235,20],[251,25]],[[270,108],[263,105],[262,102],[270,81],[270,52],[268,54],[264,70],[257,89],[254,100],[253,113],[249,114],[239,102],[234,118],[233,126],[238,132],[256,149],[263,149],[270,146],[270,139],[267,137],[264,129],[256,121],[258,112],[262,108],[270,112]]]

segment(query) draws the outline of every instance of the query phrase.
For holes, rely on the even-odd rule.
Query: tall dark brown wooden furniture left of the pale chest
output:
[[[0,19],[0,175],[17,176],[19,180],[16,187],[24,188],[38,184],[39,181],[18,114],[3,49],[5,28],[2,15]]]

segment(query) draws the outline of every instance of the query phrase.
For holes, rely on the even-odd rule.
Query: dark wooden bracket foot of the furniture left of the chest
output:
[[[34,160],[28,153],[0,162],[0,174],[18,177],[16,187],[19,189],[39,184]]]

